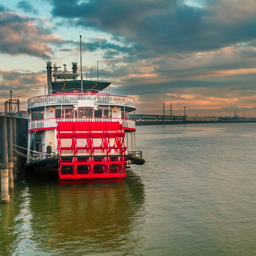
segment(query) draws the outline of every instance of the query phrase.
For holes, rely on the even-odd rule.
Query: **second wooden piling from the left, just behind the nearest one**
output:
[[[13,183],[13,144],[12,144],[12,118],[6,117],[7,123],[7,145],[8,145],[8,169],[9,169],[9,189],[14,189]]]

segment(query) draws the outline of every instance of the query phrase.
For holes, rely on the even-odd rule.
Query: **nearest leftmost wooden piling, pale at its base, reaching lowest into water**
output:
[[[0,169],[2,203],[10,203],[6,117],[0,117]]]

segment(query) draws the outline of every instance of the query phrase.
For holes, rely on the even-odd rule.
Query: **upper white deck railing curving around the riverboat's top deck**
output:
[[[135,107],[135,100],[131,97],[107,95],[107,94],[91,94],[91,93],[60,93],[30,98],[27,101],[28,107],[76,104],[78,100],[90,100],[95,104],[115,104]]]

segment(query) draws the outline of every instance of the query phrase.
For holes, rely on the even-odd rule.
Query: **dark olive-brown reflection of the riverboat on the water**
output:
[[[114,183],[59,185],[26,177],[13,200],[0,208],[6,255],[132,254],[143,240],[136,230],[144,185],[131,170],[125,182]]]

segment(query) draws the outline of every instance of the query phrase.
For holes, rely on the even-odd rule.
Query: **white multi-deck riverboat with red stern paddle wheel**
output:
[[[28,169],[56,172],[60,183],[123,181],[136,151],[135,100],[110,94],[110,82],[78,80],[72,71],[47,61],[45,95],[28,100]],[[130,150],[129,150],[130,149]]]

